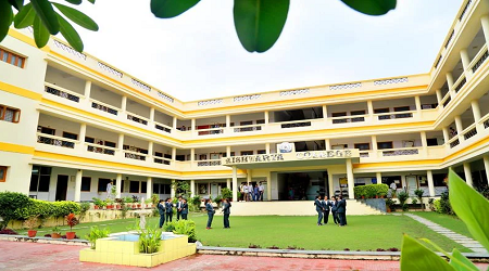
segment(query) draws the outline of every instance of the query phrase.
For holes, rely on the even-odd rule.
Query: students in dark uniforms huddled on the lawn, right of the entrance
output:
[[[317,211],[317,225],[323,225],[323,219],[324,224],[328,223],[329,210],[331,210],[335,224],[347,225],[347,201],[342,196],[333,196],[331,201],[328,201],[328,196],[318,195],[314,199],[314,205]]]

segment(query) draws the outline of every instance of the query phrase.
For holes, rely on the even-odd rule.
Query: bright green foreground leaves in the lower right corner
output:
[[[449,172],[449,194],[453,211],[467,225],[472,236],[489,250],[489,201],[468,186],[453,170]],[[429,240],[422,240],[442,253],[446,261],[419,241],[404,235],[401,249],[401,270],[479,270],[456,248],[451,254]]]

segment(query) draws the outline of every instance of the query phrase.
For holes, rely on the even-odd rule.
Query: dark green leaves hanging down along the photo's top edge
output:
[[[83,0],[64,0],[78,5]],[[86,0],[95,3],[95,0]],[[397,0],[341,0],[351,9],[367,15],[384,15],[396,9]],[[200,0],[151,0],[150,9],[159,18],[176,17],[198,4]],[[248,52],[265,52],[280,37],[287,21],[290,0],[235,0],[233,9],[236,34]],[[14,14],[16,10],[16,14]],[[14,24],[17,29],[32,26],[38,48],[45,47],[50,35],[61,33],[78,52],[84,50],[80,36],[68,22],[97,31],[93,20],[76,8],[49,0],[0,0],[0,42]]]

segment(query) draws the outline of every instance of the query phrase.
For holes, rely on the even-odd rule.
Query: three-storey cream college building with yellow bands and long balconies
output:
[[[0,191],[90,201],[262,182],[265,199],[489,175],[489,1],[465,0],[427,74],[184,102],[29,29],[0,44]],[[285,142],[289,142],[285,143]],[[289,152],[291,151],[291,152]]]

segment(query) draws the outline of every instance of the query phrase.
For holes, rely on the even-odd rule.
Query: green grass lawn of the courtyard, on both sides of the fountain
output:
[[[402,234],[414,237],[427,237],[442,248],[461,251],[469,249],[429,230],[427,227],[405,216],[350,216],[348,225],[340,228],[333,223],[318,227],[316,217],[230,217],[231,229],[223,229],[223,217],[214,217],[213,229],[205,230],[206,215],[190,214],[189,219],[197,224],[197,237],[203,245],[248,247],[250,244],[263,248],[273,245],[280,248],[297,246],[305,249],[376,250],[377,248],[401,248]],[[159,218],[147,219],[148,224],[155,225]],[[91,225],[109,227],[111,232],[127,231],[136,219],[112,220],[97,223],[83,223],[74,231],[84,237]],[[62,227],[63,234],[67,230]],[[20,231],[25,234],[25,231]],[[38,235],[51,233],[49,228],[39,229]]]

